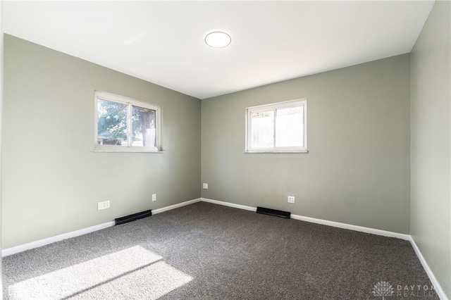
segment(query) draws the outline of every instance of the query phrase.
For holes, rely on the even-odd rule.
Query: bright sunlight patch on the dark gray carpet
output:
[[[161,256],[133,246],[18,282],[8,292],[10,299],[158,299],[191,280]]]

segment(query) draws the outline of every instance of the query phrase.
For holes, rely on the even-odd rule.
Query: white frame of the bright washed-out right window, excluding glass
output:
[[[276,111],[280,108],[303,107],[304,117],[304,146],[288,146],[288,147],[267,147],[267,148],[253,148],[252,145],[252,122],[251,114],[262,111]],[[275,114],[276,117],[276,114]],[[276,128],[276,127],[274,127]],[[276,130],[274,132],[276,135]],[[295,99],[290,101],[277,102],[273,104],[264,104],[259,106],[251,106],[246,108],[246,132],[245,132],[245,153],[307,153],[307,99]],[[276,137],[274,137],[276,141]]]

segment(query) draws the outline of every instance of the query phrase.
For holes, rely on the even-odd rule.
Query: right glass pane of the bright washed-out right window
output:
[[[304,146],[304,108],[281,108],[276,112],[276,146]]]

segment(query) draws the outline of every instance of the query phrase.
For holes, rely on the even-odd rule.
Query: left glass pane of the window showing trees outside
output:
[[[97,100],[97,144],[127,146],[127,105]]]

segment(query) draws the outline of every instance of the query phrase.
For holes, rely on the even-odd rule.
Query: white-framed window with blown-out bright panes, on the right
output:
[[[247,152],[307,152],[307,100],[246,109]]]

